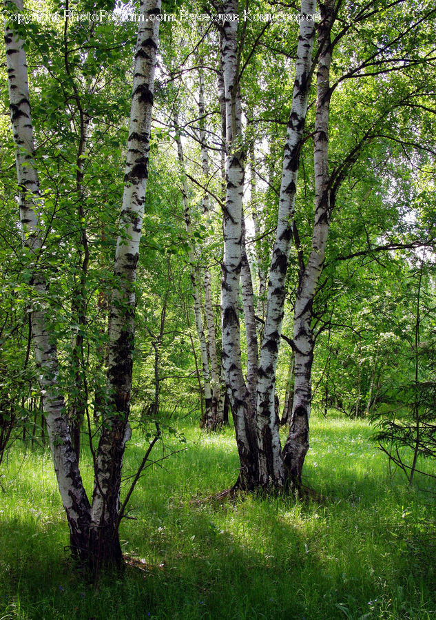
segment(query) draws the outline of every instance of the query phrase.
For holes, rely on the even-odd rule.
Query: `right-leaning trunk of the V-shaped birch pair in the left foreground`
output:
[[[129,439],[129,402],[132,389],[136,265],[143,223],[145,188],[152,124],[154,71],[158,49],[160,0],[141,0],[144,21],[138,23],[134,58],[132,105],[121,210],[121,234],[116,245],[116,286],[110,308],[109,367],[110,411],[103,417],[96,453],[90,557],[94,564],[120,564],[118,537],[121,468]]]

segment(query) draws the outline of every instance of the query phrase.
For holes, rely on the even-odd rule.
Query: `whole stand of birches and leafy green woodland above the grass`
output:
[[[48,421],[71,466],[65,506],[72,488],[83,504],[79,555],[91,541],[121,559],[101,540],[121,518],[131,402],[153,443],[198,395],[219,425],[226,384],[245,489],[301,486],[312,401],[385,416],[380,440],[433,450],[434,12],[406,20],[415,8],[326,2],[316,27],[163,22],[156,79],[157,26],[134,51],[131,22],[8,23],[19,174],[2,121],[0,449]]]

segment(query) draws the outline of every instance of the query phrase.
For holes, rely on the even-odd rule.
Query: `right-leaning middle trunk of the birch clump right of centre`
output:
[[[313,14],[315,0],[302,0],[301,12]],[[284,146],[282,183],[280,186],[276,242],[269,269],[267,313],[258,371],[256,394],[259,484],[284,486],[279,428],[276,422],[276,368],[284,313],[285,281],[291,250],[292,220],[297,190],[302,134],[311,85],[312,49],[315,28],[313,19],[302,19],[298,38],[297,61],[287,141]]]

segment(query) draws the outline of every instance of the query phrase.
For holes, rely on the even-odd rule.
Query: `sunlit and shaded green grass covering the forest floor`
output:
[[[96,590],[68,555],[50,455],[13,448],[1,471],[0,620],[436,619],[434,486],[390,476],[365,422],[313,417],[310,502],[211,501],[236,479],[233,433],[180,430],[188,449],[147,469],[121,527],[142,570],[102,575]],[[131,442],[126,471],[142,452]]]

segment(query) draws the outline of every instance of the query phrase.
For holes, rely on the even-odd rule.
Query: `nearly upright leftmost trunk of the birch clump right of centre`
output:
[[[222,3],[222,11],[226,14],[237,14],[238,1],[225,0]],[[256,486],[258,475],[253,395],[249,393],[245,384],[240,349],[238,295],[242,256],[245,156],[242,150],[237,21],[225,21],[222,24],[220,52],[226,120],[226,196],[223,208],[224,258],[221,285],[222,366],[225,371],[240,459],[240,475],[236,484],[241,488],[250,489]]]

